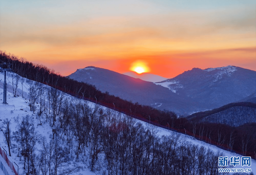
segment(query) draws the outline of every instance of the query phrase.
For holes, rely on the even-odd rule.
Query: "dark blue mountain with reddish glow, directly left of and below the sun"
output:
[[[183,105],[180,103],[173,103],[172,100],[189,103],[189,101],[186,102],[182,97],[172,93],[165,87],[94,66],[78,69],[68,77],[79,82],[95,85],[102,92],[108,91],[109,94],[122,99],[134,103],[138,102],[143,105],[150,105],[158,109],[178,112],[183,111]],[[167,99],[172,100],[169,101]],[[188,105],[188,107],[189,106],[191,105]]]

